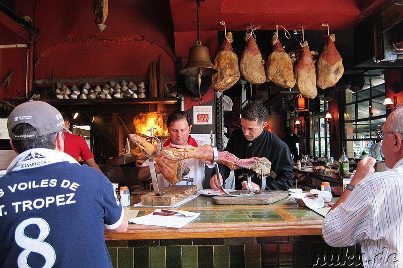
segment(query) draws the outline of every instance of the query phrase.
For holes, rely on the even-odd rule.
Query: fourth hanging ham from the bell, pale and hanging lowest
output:
[[[295,64],[294,74],[298,91],[302,96],[314,99],[316,95],[318,95],[318,92],[316,90],[315,65],[312,61],[308,41],[304,41],[302,44],[301,58],[297,64]]]

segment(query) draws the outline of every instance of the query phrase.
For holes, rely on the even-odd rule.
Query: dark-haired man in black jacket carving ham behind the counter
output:
[[[266,179],[266,190],[287,191],[294,182],[294,163],[290,150],[279,137],[266,130],[267,110],[259,103],[249,103],[242,109],[241,128],[234,130],[227,144],[226,151],[241,159],[266,157],[272,162],[272,171]],[[226,165],[220,164],[220,180],[231,172]],[[248,169],[235,170],[235,189],[248,190],[246,183]],[[253,190],[260,190],[261,181],[255,174],[252,178]],[[217,174],[210,180],[213,189],[219,189]]]

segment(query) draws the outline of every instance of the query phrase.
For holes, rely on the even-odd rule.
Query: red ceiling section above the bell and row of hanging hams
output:
[[[246,31],[249,23],[260,30],[276,30],[276,24],[287,30],[352,30],[360,14],[373,13],[388,0],[206,0],[200,2],[200,40],[215,55],[217,31],[224,30],[219,22],[225,21],[227,30]],[[196,36],[196,1],[171,0],[175,34],[176,56],[187,57]]]

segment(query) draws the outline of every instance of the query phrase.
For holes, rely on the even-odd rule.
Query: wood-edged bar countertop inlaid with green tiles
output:
[[[138,197],[132,196],[132,203]],[[155,210],[133,207],[139,216]],[[105,231],[106,240],[267,237],[287,235],[320,235],[323,216],[299,207],[294,200],[280,200],[270,205],[215,205],[211,197],[199,196],[182,205],[180,210],[200,212],[199,218],[181,229],[129,224],[125,233]]]

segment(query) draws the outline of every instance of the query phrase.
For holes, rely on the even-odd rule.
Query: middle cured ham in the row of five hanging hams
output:
[[[272,53],[267,58],[267,79],[281,87],[294,87],[293,63],[280,43],[278,35],[272,37],[272,45]]]

